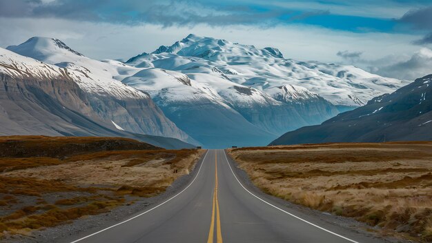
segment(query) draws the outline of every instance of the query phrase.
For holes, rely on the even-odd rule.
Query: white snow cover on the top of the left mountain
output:
[[[29,73],[52,79],[69,76],[89,93],[113,95],[119,99],[148,98],[145,93],[121,83],[121,79],[135,74],[139,68],[120,65],[118,61],[97,61],[84,57],[58,39],[33,37],[8,49],[11,51],[0,50],[0,54],[4,55],[0,64],[12,65],[6,73],[11,73],[13,77],[29,77]]]

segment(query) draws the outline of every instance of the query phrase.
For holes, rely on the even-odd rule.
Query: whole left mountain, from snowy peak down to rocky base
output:
[[[12,108],[20,106],[18,102],[14,104],[10,100],[7,101],[10,97],[18,99],[19,93],[21,95],[30,93],[35,104],[43,103],[39,99],[45,96],[47,100],[49,98],[59,102],[60,104],[56,105],[60,105],[64,110],[79,113],[86,119],[97,121],[97,124],[93,125],[115,130],[116,133],[125,131],[175,137],[185,142],[197,143],[166,118],[148,94],[112,78],[110,72],[117,72],[119,75],[127,73],[128,70],[123,72],[124,64],[119,63],[116,66],[92,60],[68,48],[57,39],[42,37],[34,37],[19,46],[11,46],[8,49],[28,57],[0,49],[0,72],[3,77],[2,81],[5,82],[6,94],[8,94],[3,97],[1,108],[7,114],[3,119],[8,119],[8,124],[15,128],[13,130],[8,126],[3,126],[1,133],[4,135],[33,133],[106,135],[106,132],[83,128],[82,124],[78,126],[75,124],[77,121],[70,117],[68,121],[60,122],[58,114],[57,118],[46,121],[41,113],[52,112],[49,104],[43,104],[43,109],[35,108],[28,113],[27,108],[21,107],[18,109],[19,112]],[[35,57],[39,61],[29,57]],[[9,85],[12,85],[10,89],[8,89]],[[33,97],[37,91],[39,92],[37,97]],[[26,106],[31,105],[26,104]],[[31,122],[21,119],[17,121],[17,117],[21,116],[28,117],[27,119],[30,119]],[[47,119],[48,117],[52,117],[52,114],[48,115]]]

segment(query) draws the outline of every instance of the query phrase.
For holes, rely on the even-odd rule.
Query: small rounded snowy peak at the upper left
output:
[[[49,37],[32,37],[18,46],[8,46],[6,49],[35,59],[38,59],[37,57],[52,55],[52,53],[55,52],[63,52],[84,57],[84,55],[76,50],[72,50],[72,48],[67,46],[63,41]]]

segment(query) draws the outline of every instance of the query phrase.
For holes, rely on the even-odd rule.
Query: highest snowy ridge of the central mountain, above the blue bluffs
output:
[[[369,72],[361,70],[360,68],[356,68],[355,66],[324,64],[319,61],[295,61],[294,59],[284,59],[282,58],[283,57],[282,53],[280,53],[278,50],[277,52],[280,53],[280,57],[275,58],[275,55],[272,55],[271,52],[269,52],[268,50],[277,50],[277,48],[258,49],[255,48],[255,46],[242,45],[239,43],[231,43],[230,41],[226,41],[224,39],[214,39],[212,37],[198,37],[197,35],[190,34],[188,35],[188,37],[182,39],[181,41],[176,41],[171,46],[161,46],[153,52],[150,53],[143,52],[141,55],[132,57],[131,59],[126,61],[126,64],[137,66],[139,64],[142,65],[146,61],[153,62],[155,61],[155,59],[161,59],[160,55],[165,53],[166,57],[163,58],[167,58],[167,57],[174,58],[175,60],[173,60],[173,62],[177,61],[177,63],[173,64],[174,66],[171,68],[167,68],[167,66],[158,66],[157,64],[153,65],[154,68],[164,68],[170,70],[182,70],[182,68],[183,69],[191,68],[193,66],[185,66],[185,64],[187,64],[190,61],[194,61],[194,58],[198,58],[195,59],[195,61],[200,61],[200,59],[203,59],[202,61],[226,62],[226,64],[222,63],[223,68],[219,68],[218,65],[215,63],[213,63],[213,66],[217,67],[219,70],[222,70],[222,72],[224,72],[225,75],[229,76],[229,75],[233,75],[232,72],[233,70],[237,75],[246,75],[246,72],[241,72],[233,68],[241,67],[242,62],[247,62],[247,61],[249,61],[248,64],[251,65],[250,61],[254,61],[252,57],[256,57],[258,58],[258,61],[264,61],[264,62],[268,61],[269,66],[273,66],[273,67],[288,66],[287,70],[283,70],[280,67],[273,70],[275,72],[286,72],[287,74],[285,77],[285,76],[277,76],[275,75],[275,73],[273,73],[272,74],[273,76],[281,78],[284,81],[284,82],[274,82],[274,84],[280,84],[280,86],[282,86],[283,84],[293,84],[297,86],[303,86],[304,88],[308,88],[308,90],[324,97],[324,99],[331,101],[332,104],[343,105],[343,106],[360,106],[366,104],[366,101],[377,96],[375,95],[377,93],[380,94],[391,93],[385,91],[392,91],[394,88],[400,88],[401,86],[403,86],[400,85],[401,82],[403,84],[408,84],[408,81],[397,81],[397,79],[383,78],[378,75],[373,75]],[[206,52],[206,55],[204,55],[204,52]],[[175,55],[177,55],[177,57]],[[184,59],[181,59],[181,57],[184,57]],[[226,59],[228,57],[231,59],[228,60],[227,62]],[[141,61],[141,63],[139,63],[139,61]],[[152,65],[147,64],[147,66],[152,66]],[[290,66],[293,66],[293,69],[295,69],[297,75],[295,74],[295,72],[292,72],[292,70],[289,68]],[[257,71],[257,70],[248,70],[248,69],[246,70],[248,72]],[[266,79],[270,79],[272,75],[268,75],[268,73],[266,73],[265,75],[258,75],[257,77],[259,77],[259,79],[266,80]],[[312,87],[311,85],[306,86],[307,83],[305,82],[305,80],[307,80],[309,83],[316,82],[317,84],[322,85],[320,87],[326,88],[326,86],[324,86],[323,79],[320,79],[320,77],[331,79],[330,81],[335,81],[335,79],[336,80],[339,79],[337,81],[340,82],[340,84],[325,84],[328,87],[331,87],[332,85],[335,86],[333,88],[335,88],[334,92],[336,93],[338,88],[337,86],[341,86],[342,84],[344,84],[345,87],[348,87],[350,89],[355,89],[356,91],[358,90],[361,91],[370,88],[371,94],[367,94],[366,97],[364,98],[364,97],[360,97],[360,95],[355,95],[355,93],[351,93],[351,94],[347,93],[346,97],[344,97],[345,101],[334,100],[333,99],[334,97],[332,98],[331,95],[322,92],[321,93],[315,92],[314,90],[317,90],[317,88],[311,88]],[[359,77],[359,79],[357,80],[356,77]],[[233,80],[237,84],[246,84],[248,86],[252,86],[253,88],[258,88],[259,90],[265,90],[268,85],[271,85],[265,82],[264,84],[259,84],[260,83],[259,79],[255,79],[255,81],[257,82],[254,82],[254,79],[251,80],[233,79]],[[297,81],[297,84],[296,82],[293,81]],[[362,84],[362,82],[364,82],[365,84]],[[373,88],[377,88],[377,90],[380,91],[374,93]],[[344,91],[347,92],[347,90]],[[338,94],[338,95],[341,96],[344,94]],[[348,95],[351,97],[348,97]]]

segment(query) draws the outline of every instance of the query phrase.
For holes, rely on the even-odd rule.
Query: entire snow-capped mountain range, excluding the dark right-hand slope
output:
[[[164,148],[265,146],[409,84],[192,34],[124,62],[32,37],[1,49],[0,64],[1,134],[39,128],[38,135],[124,136]]]

